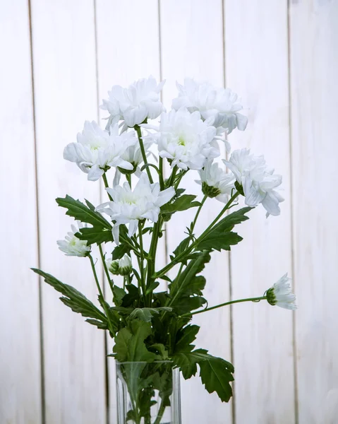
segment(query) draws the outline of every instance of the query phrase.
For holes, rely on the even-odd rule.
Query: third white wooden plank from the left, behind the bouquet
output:
[[[97,71],[99,104],[107,91],[119,84],[128,86],[139,78],[154,76],[159,81],[159,26],[157,0],[99,0],[96,1]],[[100,117],[107,117],[101,111]],[[105,124],[105,121],[103,121]],[[111,184],[114,173],[111,172]],[[107,193],[102,192],[104,201]],[[157,257],[165,260],[164,237],[159,243]],[[163,265],[163,264],[162,264]],[[115,278],[116,279],[116,278]],[[109,291],[107,285],[107,291]],[[112,341],[108,341],[111,353]],[[109,422],[116,423],[115,363],[109,365]]]

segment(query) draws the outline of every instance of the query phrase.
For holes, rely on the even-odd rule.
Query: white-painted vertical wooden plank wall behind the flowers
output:
[[[96,302],[89,261],[57,249],[72,221],[54,199],[68,193],[97,204],[104,193],[62,151],[85,119],[104,117],[98,105],[111,86],[150,73],[167,79],[167,108],[184,76],[239,93],[249,124],[231,134],[232,147],[263,153],[284,177],[282,216],[266,219],[257,208],[241,226],[241,245],[209,264],[210,305],[262,295],[289,271],[300,306],[294,316],[260,303],[194,319],[198,347],[233,360],[236,383],[234,401],[222,404],[199,378],[182,382],[183,424],[337,424],[338,0],[0,6],[0,424],[116,423],[104,334],[49,286],[40,293],[29,267]],[[193,179],[188,192],[198,194]],[[221,206],[207,205],[197,232]],[[167,226],[169,253],[191,216]],[[164,261],[164,242],[159,249]]]

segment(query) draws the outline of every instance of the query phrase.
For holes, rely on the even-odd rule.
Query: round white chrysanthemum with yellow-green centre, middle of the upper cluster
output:
[[[202,169],[207,158],[219,156],[212,120],[203,122],[200,112],[190,113],[185,108],[162,113],[159,133],[155,135],[159,155],[171,160],[171,167]]]

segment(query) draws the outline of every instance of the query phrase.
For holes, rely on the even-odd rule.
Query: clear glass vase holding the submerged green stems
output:
[[[181,424],[179,378],[170,361],[116,361],[117,424]]]

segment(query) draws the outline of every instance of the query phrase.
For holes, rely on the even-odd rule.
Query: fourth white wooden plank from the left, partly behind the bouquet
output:
[[[177,95],[175,82],[183,82],[185,76],[223,86],[223,28],[222,1],[212,3],[198,1],[162,0],[161,42],[164,104],[171,108],[171,99]],[[194,182],[197,172],[190,172],[184,181],[186,193],[198,194],[200,186]],[[200,234],[215,218],[222,204],[208,199],[203,213],[198,218],[196,234]],[[184,231],[195,216],[191,209],[176,213],[167,225],[168,252],[186,236]],[[229,269],[227,253],[214,254],[207,264],[205,297],[210,305],[229,299]],[[193,320],[201,326],[197,346],[208,348],[210,353],[230,360],[229,310],[215,310],[198,315]],[[217,333],[215,329],[217,328]],[[199,377],[182,381],[182,421],[193,423],[230,423],[231,406],[222,404],[217,395],[208,394]]]

